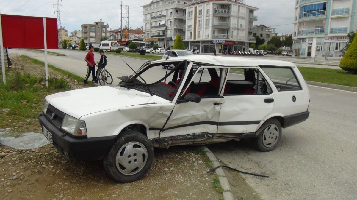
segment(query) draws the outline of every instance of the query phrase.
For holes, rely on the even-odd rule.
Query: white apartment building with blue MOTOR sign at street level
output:
[[[251,28],[257,7],[244,0],[194,0],[186,7],[186,40],[202,53],[247,51],[256,42]]]

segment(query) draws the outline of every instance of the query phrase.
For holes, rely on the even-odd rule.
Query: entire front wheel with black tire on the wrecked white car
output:
[[[153,161],[150,140],[137,131],[123,131],[104,156],[103,165],[111,178],[127,183],[144,177]]]

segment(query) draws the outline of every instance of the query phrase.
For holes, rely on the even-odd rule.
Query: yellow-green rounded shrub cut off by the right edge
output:
[[[355,37],[348,47],[345,56],[341,59],[341,69],[351,73],[357,74],[357,37]]]

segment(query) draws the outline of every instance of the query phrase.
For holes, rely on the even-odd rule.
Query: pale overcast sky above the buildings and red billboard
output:
[[[0,0],[0,13],[39,17],[57,17],[57,0]],[[150,0],[60,0],[61,25],[70,32],[81,30],[81,24],[100,21],[108,23],[110,28],[120,26],[120,3],[129,6],[129,27],[144,26],[142,5]],[[276,32],[292,33],[295,0],[268,1],[246,0],[247,5],[258,7],[254,15],[258,21],[254,25],[264,24],[276,28]],[[123,22],[124,23],[124,22]]]

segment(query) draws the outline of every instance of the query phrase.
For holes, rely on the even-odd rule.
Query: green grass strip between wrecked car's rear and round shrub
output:
[[[357,75],[341,69],[298,67],[305,80],[357,87]]]

